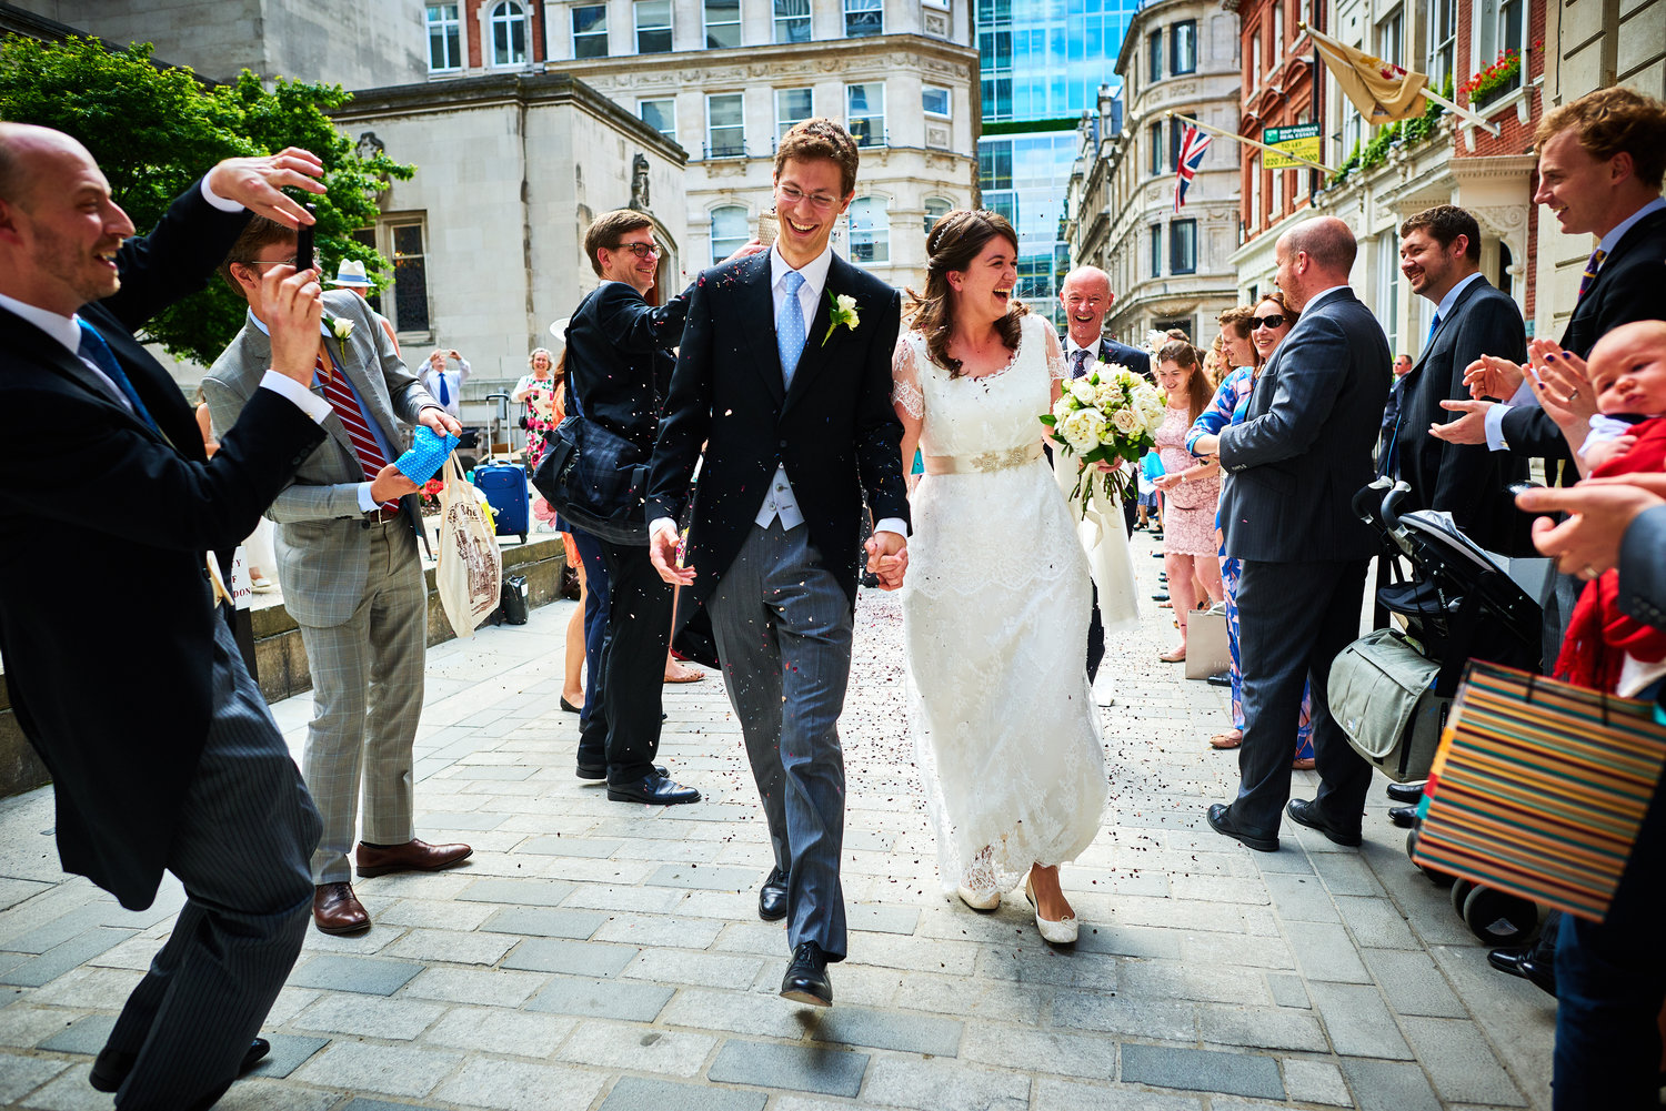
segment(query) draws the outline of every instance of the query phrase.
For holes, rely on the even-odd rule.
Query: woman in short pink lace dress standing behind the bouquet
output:
[[[1198,350],[1185,340],[1165,343],[1156,353],[1156,380],[1168,393],[1168,415],[1156,430],[1166,471],[1156,480],[1165,498],[1163,570],[1168,571],[1168,593],[1180,623],[1180,646],[1158,658],[1180,663],[1186,658],[1186,621],[1200,601],[1193,575],[1203,581],[1210,601],[1221,600],[1221,566],[1215,558],[1215,503],[1221,496],[1221,473],[1220,465],[1200,473],[1200,460],[1186,450],[1191,421],[1213,398]]]

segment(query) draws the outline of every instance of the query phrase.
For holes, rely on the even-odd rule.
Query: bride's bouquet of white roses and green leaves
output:
[[[1065,383],[1065,393],[1041,423],[1053,430],[1053,440],[1065,451],[1081,460],[1070,500],[1080,501],[1086,513],[1095,480],[1113,505],[1136,481],[1133,468],[1151,450],[1163,423],[1163,395],[1121,363],[1095,363],[1088,373]],[[1116,460],[1130,466],[1110,473],[1093,466]]]

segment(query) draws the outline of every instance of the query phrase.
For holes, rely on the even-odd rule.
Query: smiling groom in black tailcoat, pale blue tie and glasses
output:
[[[868,570],[908,565],[901,425],[891,410],[896,290],[828,240],[856,195],[856,143],[805,120],[775,153],[780,238],[695,283],[648,493],[650,558],[711,613],[730,703],[770,823],[758,916],[788,919],[781,996],[831,1006],[845,959],[838,715],[850,678],[861,495]],[[773,343],[770,340],[775,340]],[[685,556],[676,521],[705,448]]]

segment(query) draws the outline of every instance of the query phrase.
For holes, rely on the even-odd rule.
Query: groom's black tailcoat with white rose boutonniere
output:
[[[856,298],[856,328],[828,335],[828,295]],[[896,290],[835,255],[793,388],[785,390],[770,252],[700,275],[648,493],[650,521],[680,520],[706,443],[686,556],[698,571],[696,601],[735,561],[770,476],[785,465],[810,541],[855,605],[863,491],[875,520],[908,520],[903,426],[891,410],[900,316]]]

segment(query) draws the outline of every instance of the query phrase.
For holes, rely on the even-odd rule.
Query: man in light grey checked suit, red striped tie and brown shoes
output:
[[[237,420],[272,358],[260,275],[293,257],[290,228],[255,220],[220,268],[248,301],[248,320],[203,378],[217,430]],[[360,780],[360,876],[445,868],[471,851],[466,844],[426,844],[413,830],[412,745],[421,713],[428,591],[416,556],[416,486],[393,466],[410,423],[436,433],[456,433],[458,423],[405,368],[357,293],[332,290],[323,300],[313,395],[332,403],[325,420],[330,438],[267,516],[278,523],[278,583],[300,625],[313,680],[302,761],[323,816],[323,838],[312,858],[313,923],[323,933],[357,933],[370,928],[347,859]],[[347,325],[350,333],[342,338]]]

